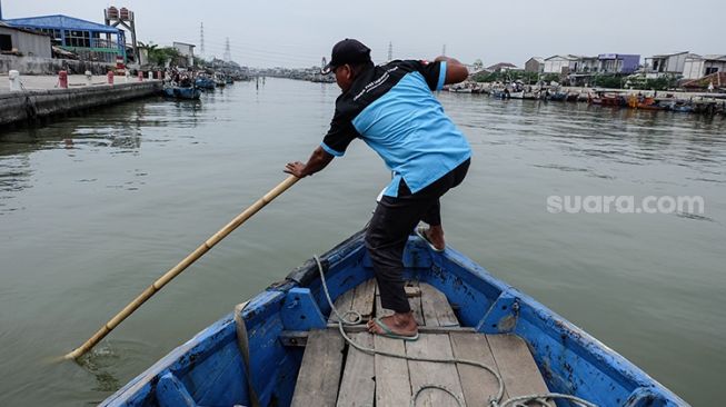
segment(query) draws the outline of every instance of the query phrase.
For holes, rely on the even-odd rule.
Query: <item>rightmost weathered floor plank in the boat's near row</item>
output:
[[[501,334],[487,335],[487,340],[508,397],[548,391],[537,364],[521,338]]]

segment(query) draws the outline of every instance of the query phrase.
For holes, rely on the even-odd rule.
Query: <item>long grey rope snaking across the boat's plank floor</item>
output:
[[[458,358],[442,358],[442,359],[437,359],[437,358],[428,358],[428,357],[416,357],[416,356],[408,356],[408,355],[399,355],[399,354],[394,354],[394,353],[388,353],[384,350],[376,350],[372,348],[367,348],[364,347],[359,344],[357,344],[355,340],[352,340],[348,335],[346,335],[345,326],[350,326],[350,325],[359,325],[362,322],[362,316],[360,312],[356,310],[349,310],[340,315],[338,312],[338,309],[335,307],[332,304],[332,299],[330,298],[330,292],[328,291],[328,284],[325,279],[325,272],[322,271],[322,264],[320,262],[320,258],[317,255],[314,255],[312,258],[315,259],[315,262],[318,266],[318,271],[320,272],[320,281],[322,281],[322,290],[325,291],[326,299],[328,300],[328,305],[330,305],[330,309],[332,312],[338,317],[338,330],[340,331],[340,335],[342,338],[348,343],[348,345],[352,346],[354,348],[362,351],[364,354],[368,355],[381,355],[381,356],[388,356],[392,358],[398,358],[398,359],[406,359],[406,360],[414,360],[414,361],[428,361],[428,363],[440,363],[440,364],[463,364],[463,365],[470,365],[470,366],[476,366],[478,368],[481,368],[484,370],[487,370],[494,377],[497,378],[498,383],[498,389],[497,389],[497,395],[495,397],[489,398],[489,407],[527,407],[527,404],[529,403],[538,403],[543,406],[547,406],[545,400],[547,399],[553,399],[553,398],[560,398],[560,399],[567,399],[570,401],[575,401],[579,404],[580,406],[585,407],[597,407],[597,405],[589,403],[587,400],[584,400],[579,397],[575,397],[571,395],[564,395],[559,393],[545,393],[545,394],[538,394],[538,395],[527,395],[527,396],[517,396],[517,397],[511,397],[505,401],[501,401],[501,398],[504,397],[504,379],[501,378],[501,375],[494,368],[475,361],[475,360],[468,360],[468,359],[458,359]],[[347,319],[348,316],[351,316],[351,319]],[[416,401],[418,397],[424,393],[424,390],[427,389],[439,389],[449,396],[451,396],[454,399],[456,399],[456,403],[459,407],[465,407],[466,404],[459,397],[457,394],[455,394],[451,389],[438,385],[438,384],[425,384],[420,386],[416,391],[414,391],[414,395],[411,396],[410,400],[410,407],[416,407]]]

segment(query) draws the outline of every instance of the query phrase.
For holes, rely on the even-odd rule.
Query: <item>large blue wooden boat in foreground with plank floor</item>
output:
[[[501,391],[509,397],[534,389],[598,406],[686,405],[624,357],[454,249],[435,252],[411,236],[404,260],[405,278],[412,281],[409,302],[416,318],[425,320],[421,337],[404,344],[374,338],[360,326],[346,328],[356,344],[407,357],[445,354],[496,365]],[[374,405],[375,397],[377,406],[399,406],[434,383],[446,386],[452,398],[446,390],[428,389],[421,397],[429,405],[456,406],[454,398],[468,406],[498,405],[488,403],[497,387],[487,371],[371,356],[344,341],[342,326],[331,324],[337,317],[330,316],[322,272],[341,312],[380,315],[361,231],[321,256],[320,264],[306,261],[236,307],[101,405],[312,407]],[[419,297],[411,292],[416,289]],[[394,403],[386,397],[402,398]]]

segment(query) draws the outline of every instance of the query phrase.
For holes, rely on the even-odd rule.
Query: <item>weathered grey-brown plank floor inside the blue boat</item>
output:
[[[419,324],[418,340],[374,336],[362,327],[350,329],[351,339],[365,347],[399,355],[456,357],[483,363],[501,375],[505,385],[501,400],[548,391],[523,339],[506,334],[484,335],[460,327],[446,296],[428,284],[408,281],[406,291]],[[336,307],[341,314],[356,310],[365,319],[390,312],[380,306],[374,279],[341,295]],[[426,389],[419,395],[417,406],[456,407],[461,403],[463,406],[487,406],[497,394],[495,376],[475,366],[364,354],[344,340],[336,322],[332,316],[328,329],[309,332],[292,397],[294,407],[408,406],[411,396],[430,384],[446,387],[456,398],[444,390]]]

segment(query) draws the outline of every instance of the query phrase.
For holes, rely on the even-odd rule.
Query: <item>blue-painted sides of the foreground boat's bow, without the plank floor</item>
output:
[[[451,248],[435,252],[411,236],[404,264],[407,280],[434,287],[451,305],[460,327],[450,329],[524,341],[549,391],[577,396],[598,406],[687,405],[587,332]],[[301,365],[308,351],[296,340],[325,329],[332,332],[328,319],[331,307],[320,270],[336,307],[346,292],[358,292],[374,277],[364,232],[322,255],[319,264],[306,261],[285,280],[236,307],[102,405],[296,405],[296,384],[300,384],[298,376],[304,375]],[[338,330],[335,334],[339,335]],[[350,354],[347,360],[352,364]],[[476,375],[476,380],[484,375]],[[568,403],[558,400],[557,405],[576,405]]]

